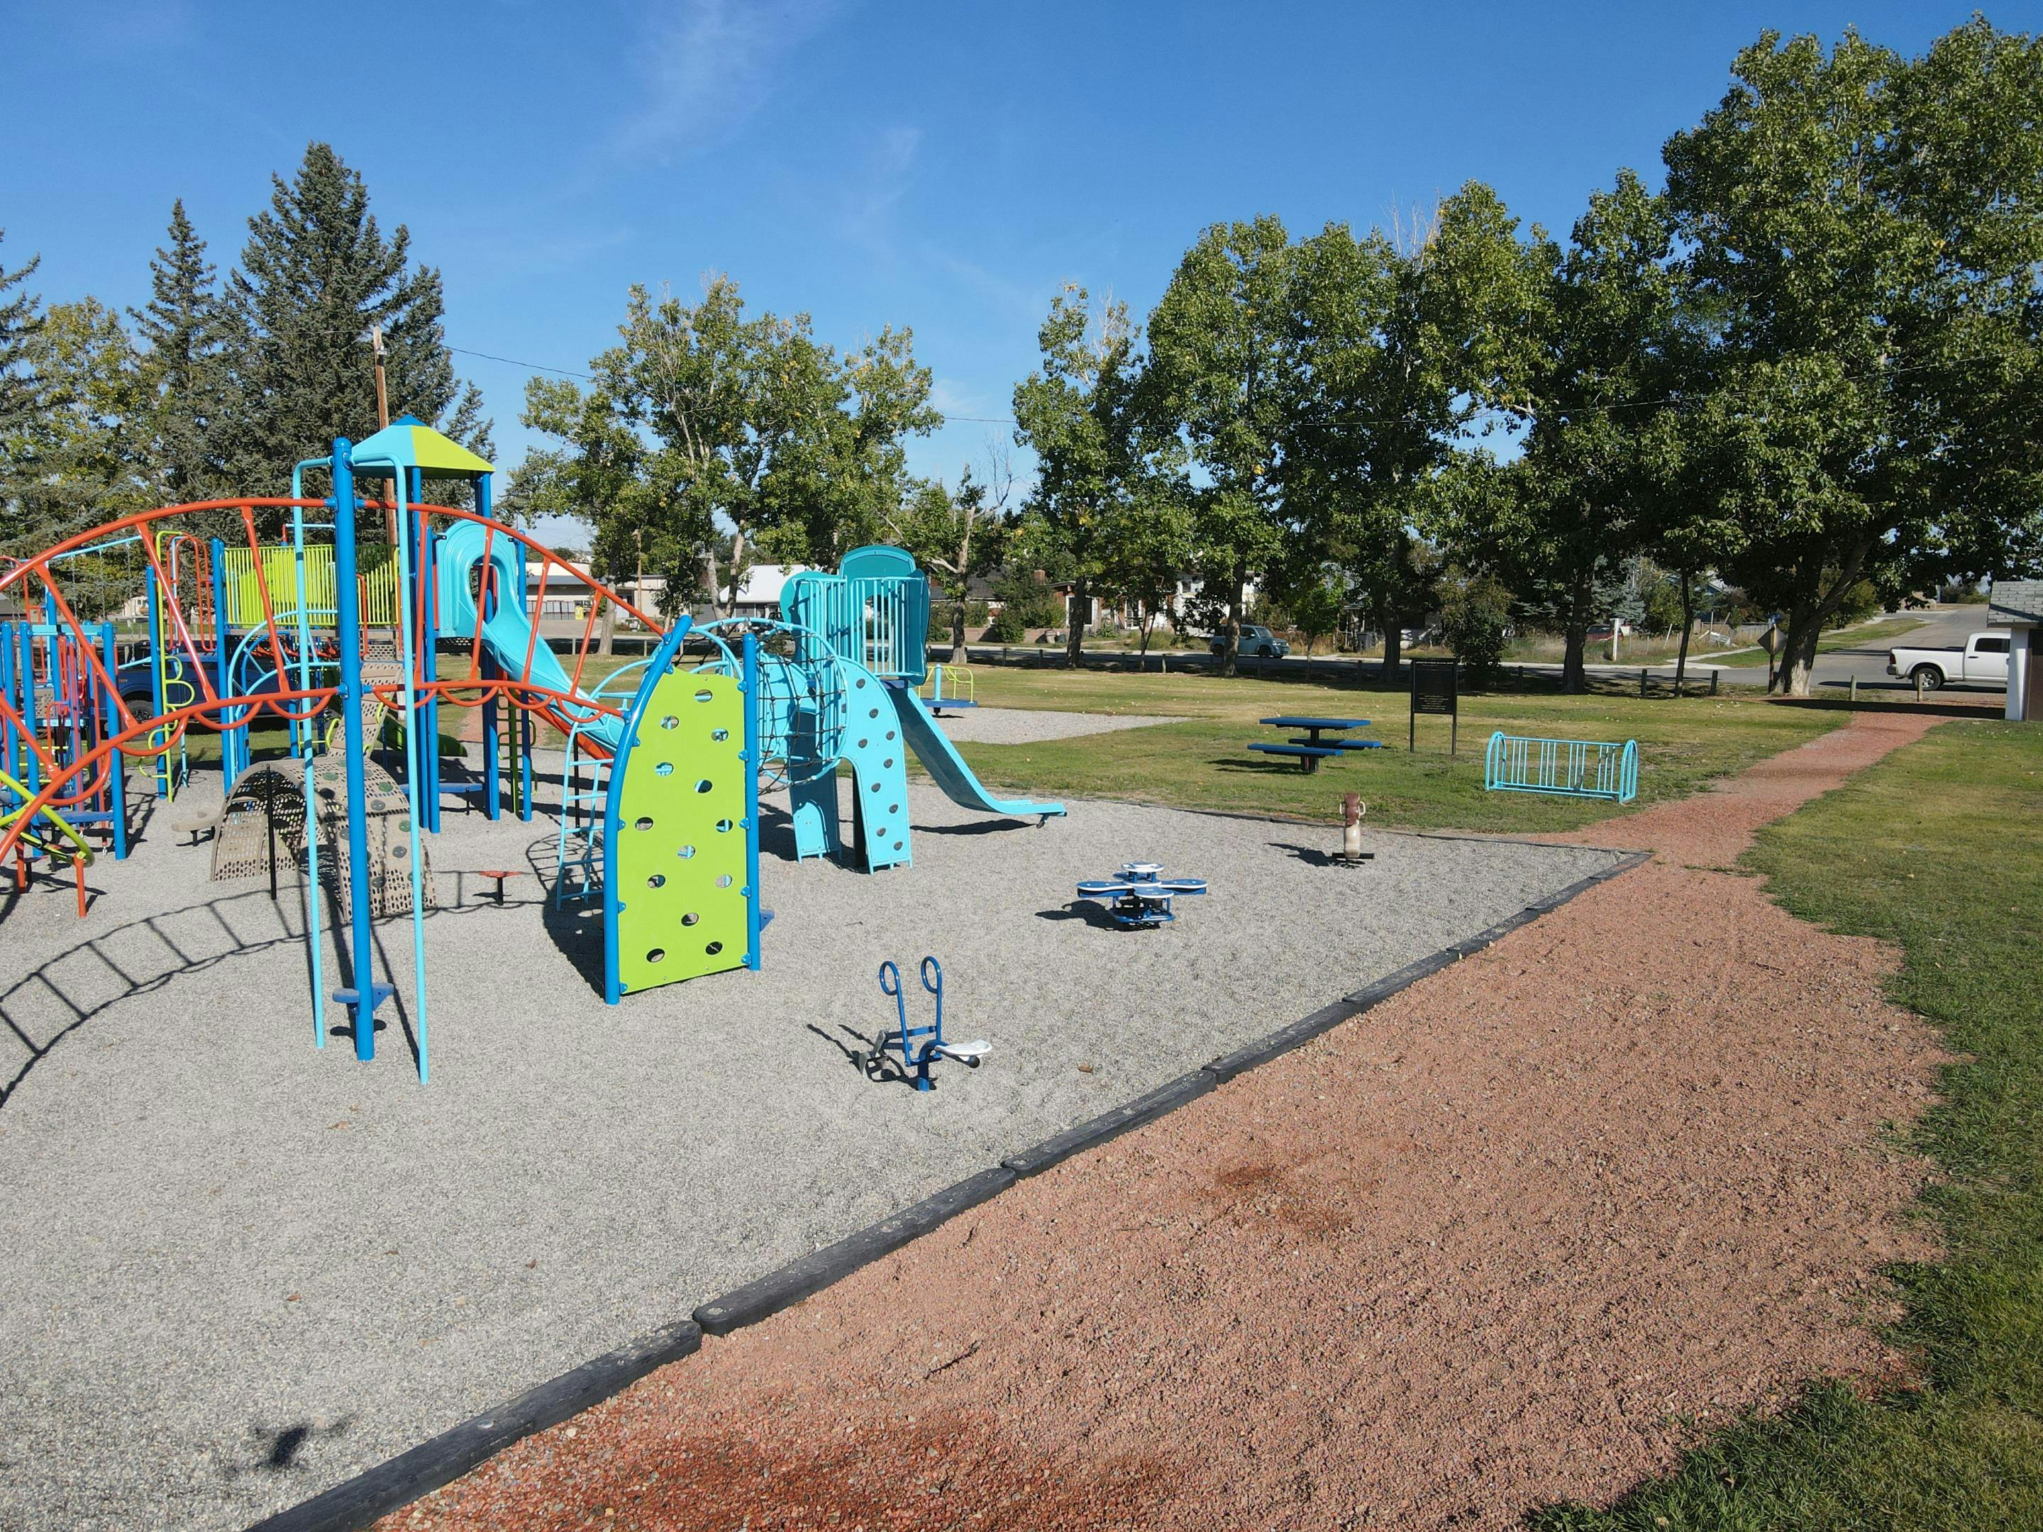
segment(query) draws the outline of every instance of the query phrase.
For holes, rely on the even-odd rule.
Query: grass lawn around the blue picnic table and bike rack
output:
[[[1638,739],[1636,807],[1694,793],[1712,776],[1812,739],[1843,713],[1769,705],[1761,699],[1690,697],[1641,701],[1493,695],[1461,699],[1461,754],[1448,758],[1448,719],[1418,721],[1420,748],[1406,752],[1410,695],[1246,676],[1156,676],[1101,670],[979,666],[979,701],[995,707],[1079,713],[1179,715],[1185,723],[1030,746],[960,746],[993,786],[1030,797],[1093,797],[1338,819],[1342,793],[1361,793],[1373,823],[1557,831],[1620,813],[1610,803],[1483,791],[1483,746],[1493,729],[1571,739]],[[1363,737],[1387,750],[1328,760],[1308,776],[1295,762],[1258,756],[1250,739],[1285,739],[1256,719],[1277,713],[1367,717]]]

